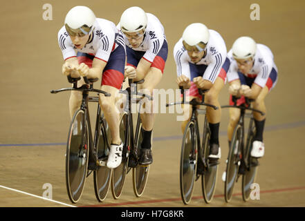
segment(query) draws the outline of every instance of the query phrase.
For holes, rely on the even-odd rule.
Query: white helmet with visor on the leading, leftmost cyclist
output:
[[[88,35],[93,30],[95,22],[93,11],[86,6],[75,6],[68,11],[64,25],[69,35]]]

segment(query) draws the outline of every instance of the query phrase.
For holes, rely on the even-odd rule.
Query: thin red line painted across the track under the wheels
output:
[[[286,191],[296,191],[300,189],[305,189],[305,186],[298,186],[292,188],[285,188],[285,189],[270,189],[266,191],[260,191],[260,193],[280,193]],[[233,196],[241,195],[241,193],[234,193]],[[214,198],[223,198],[224,195],[214,195]],[[194,196],[192,199],[203,199],[203,196]],[[174,202],[180,201],[181,198],[169,198],[169,199],[160,199],[160,200],[142,200],[142,201],[130,201],[130,202],[118,202],[118,203],[109,203],[109,204],[95,204],[95,205],[88,205],[88,206],[80,206],[80,207],[107,207],[107,206],[127,206],[127,205],[134,205],[134,204],[148,204],[148,203],[156,203],[156,202]],[[182,200],[181,200],[182,201]]]

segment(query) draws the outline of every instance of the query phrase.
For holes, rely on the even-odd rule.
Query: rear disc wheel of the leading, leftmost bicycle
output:
[[[109,155],[109,141],[110,130],[108,124],[103,118],[101,118],[98,128],[96,151],[98,153],[98,159],[102,160],[104,164],[98,170],[93,171],[94,191],[99,202],[102,202],[107,197],[111,183],[112,171],[106,166]]]

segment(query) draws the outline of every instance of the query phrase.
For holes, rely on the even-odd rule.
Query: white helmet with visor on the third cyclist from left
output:
[[[191,50],[195,46],[202,51],[210,39],[210,32],[203,23],[191,23],[183,31],[182,39],[185,49]]]

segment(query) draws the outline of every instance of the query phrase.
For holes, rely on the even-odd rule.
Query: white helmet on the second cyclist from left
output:
[[[139,32],[145,30],[147,26],[147,15],[142,8],[131,7],[124,10],[121,19],[120,26],[122,32]]]

